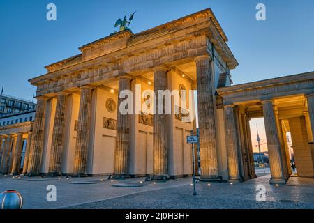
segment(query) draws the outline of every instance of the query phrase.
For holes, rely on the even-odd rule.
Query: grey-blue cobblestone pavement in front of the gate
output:
[[[93,178],[12,178],[0,176],[0,191],[18,190],[23,208],[311,208],[314,209],[314,179],[291,177],[287,185],[269,185],[269,174],[244,183],[197,183],[192,195],[190,178],[166,183],[144,178],[107,180]],[[102,180],[102,181],[100,181]],[[142,183],[140,181],[142,180]],[[72,182],[72,183],[71,183]],[[94,183],[94,184],[73,184]],[[143,187],[113,187],[117,183]],[[57,187],[57,202],[48,202],[47,185]],[[264,185],[266,201],[257,202],[257,185]],[[123,202],[121,202],[123,201]]]

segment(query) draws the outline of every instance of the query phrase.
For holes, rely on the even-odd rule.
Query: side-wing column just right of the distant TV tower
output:
[[[271,169],[271,180],[269,183],[285,183],[283,162],[281,154],[281,142],[279,140],[276,126],[276,118],[272,100],[262,101],[267,148],[269,153],[269,164]]]

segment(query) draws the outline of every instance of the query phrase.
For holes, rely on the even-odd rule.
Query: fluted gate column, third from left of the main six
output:
[[[89,152],[89,132],[91,125],[91,96],[93,86],[82,86],[80,112],[74,156],[74,175],[87,176],[87,157]]]

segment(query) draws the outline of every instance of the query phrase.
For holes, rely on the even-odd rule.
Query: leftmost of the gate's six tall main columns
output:
[[[29,176],[40,174],[40,164],[43,154],[43,141],[45,133],[45,112],[48,98],[38,97],[36,105],[35,120],[33,123],[33,137],[29,153],[27,174]]]

